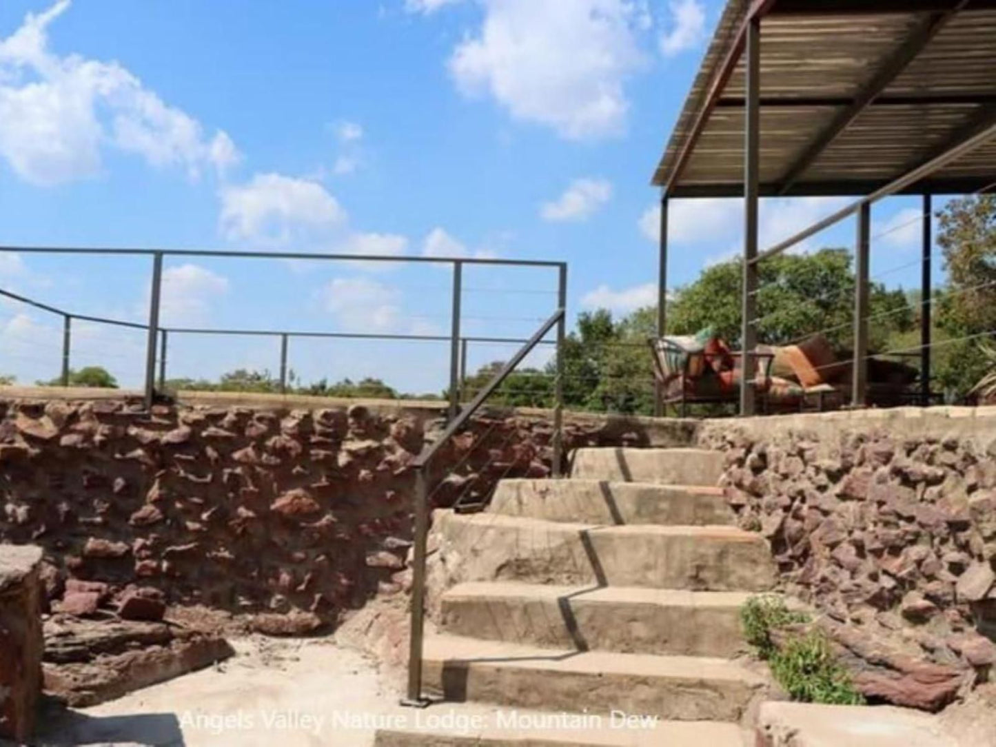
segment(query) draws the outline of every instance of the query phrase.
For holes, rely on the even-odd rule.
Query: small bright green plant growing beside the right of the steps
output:
[[[826,634],[810,630],[789,636],[768,661],[771,673],[793,700],[831,705],[862,705],[865,697],[834,657]]]

